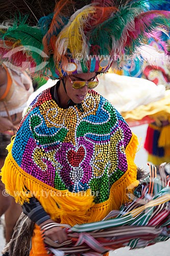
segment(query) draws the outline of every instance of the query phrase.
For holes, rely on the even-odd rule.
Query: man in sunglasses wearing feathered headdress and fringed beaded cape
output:
[[[56,223],[100,221],[130,200],[138,185],[137,138],[93,89],[98,74],[124,61],[123,54],[133,55],[146,30],[159,24],[157,17],[164,22],[170,17],[155,11],[151,19],[144,1],[89,1],[74,13],[65,12],[69,4],[59,1],[37,27],[15,23],[2,35],[8,46],[1,44],[2,51],[23,49],[22,56],[15,51],[10,59],[15,65],[28,60],[35,74],[59,79],[29,106],[1,173],[6,189],[35,223],[34,256],[47,256],[43,239],[67,240]]]

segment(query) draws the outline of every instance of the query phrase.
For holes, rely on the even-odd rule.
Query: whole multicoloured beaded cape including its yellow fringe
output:
[[[79,223],[89,217],[99,220],[128,201],[138,184],[137,138],[126,121],[93,90],[82,105],[83,113],[77,105],[62,109],[50,89],[40,93],[23,117],[2,169],[6,189],[17,202],[34,196],[52,218],[70,223],[70,214],[71,224],[74,218]]]

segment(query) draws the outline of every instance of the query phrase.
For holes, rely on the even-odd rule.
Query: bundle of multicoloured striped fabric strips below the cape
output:
[[[65,225],[70,240],[63,244],[45,240],[50,255],[98,256],[120,247],[143,248],[168,240],[170,178],[166,176],[165,165],[159,166],[158,177],[156,167],[149,164],[150,174],[130,195],[132,202],[122,205],[119,211],[111,211],[101,222]]]

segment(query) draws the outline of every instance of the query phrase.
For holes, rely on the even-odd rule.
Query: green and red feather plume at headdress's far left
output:
[[[46,69],[42,33],[38,27],[25,24],[27,19],[19,20],[1,33],[0,55],[2,61],[10,61],[21,69],[29,68],[31,73],[44,74]]]

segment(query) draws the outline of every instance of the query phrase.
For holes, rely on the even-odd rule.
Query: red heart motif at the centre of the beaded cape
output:
[[[67,159],[73,167],[78,167],[85,156],[85,150],[83,146],[80,146],[78,151],[69,150],[67,153]]]

